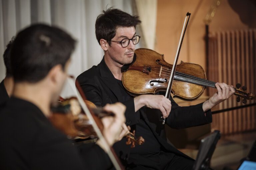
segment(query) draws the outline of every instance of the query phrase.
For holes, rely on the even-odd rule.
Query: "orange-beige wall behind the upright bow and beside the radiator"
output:
[[[191,13],[189,26],[183,41],[179,61],[200,64],[206,69],[205,23],[204,19],[215,0],[158,0],[156,47],[165,55],[165,60],[173,64],[184,18]],[[251,0],[221,0],[216,14],[209,25],[209,31],[239,30],[256,27],[256,3]],[[178,62],[179,63],[179,62]],[[203,102],[205,93],[195,102],[176,100],[181,106]],[[185,130],[167,128],[167,134],[179,134],[179,139],[169,139],[177,147],[185,147],[186,142],[210,131],[210,126],[194,127]]]

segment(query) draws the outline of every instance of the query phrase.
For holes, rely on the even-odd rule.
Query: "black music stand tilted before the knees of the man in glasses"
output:
[[[220,131],[214,130],[209,136],[201,140],[193,170],[207,170],[210,167],[212,154],[220,139]]]

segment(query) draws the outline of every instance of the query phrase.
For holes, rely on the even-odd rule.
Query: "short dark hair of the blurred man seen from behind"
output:
[[[63,30],[35,24],[20,31],[12,45],[11,67],[15,82],[42,80],[52,67],[65,63],[75,48],[75,40]]]

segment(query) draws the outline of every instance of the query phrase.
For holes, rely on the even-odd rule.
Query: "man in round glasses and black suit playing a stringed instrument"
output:
[[[129,148],[125,140],[114,144],[114,149],[127,169],[192,169],[194,160],[167,143],[164,125],[158,112],[171,128],[188,128],[212,122],[210,109],[234,94],[225,83],[216,83],[217,93],[204,103],[178,106],[172,97],[163,95],[130,96],[122,85],[121,68],[133,61],[138,16],[109,8],[97,17],[96,38],[104,50],[102,61],[77,77],[88,100],[98,106],[121,102],[126,106],[126,125],[143,136],[145,143]],[[139,81],[139,80],[138,80]]]

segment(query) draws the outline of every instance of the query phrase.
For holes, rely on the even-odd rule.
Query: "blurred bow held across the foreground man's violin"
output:
[[[98,127],[96,121],[92,117],[92,113],[93,113],[92,110],[89,107],[87,107],[87,105],[85,104],[84,100],[86,100],[86,97],[82,91],[80,84],[78,83],[78,81],[74,82],[74,79],[72,79],[71,77],[68,77],[68,82],[69,82],[70,86],[72,87],[73,91],[76,93],[78,102],[80,103],[81,108],[83,109],[84,113],[86,113],[86,116],[88,117],[88,119],[91,121],[92,127],[94,128],[98,138],[101,139],[102,144],[105,146],[105,148],[109,148],[107,151],[107,154],[108,154],[111,162],[113,163],[115,169],[124,170],[124,167],[123,167],[122,163],[120,162],[119,158],[117,157],[114,149],[108,144],[108,142],[106,141],[105,137],[103,136],[100,128]],[[73,84],[75,84],[75,86]]]

